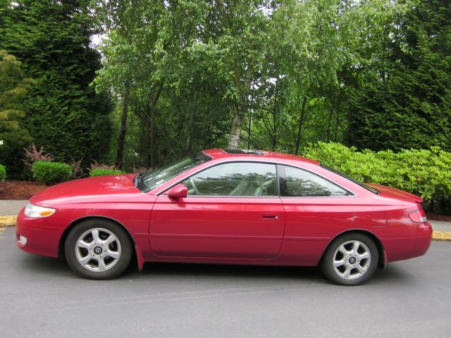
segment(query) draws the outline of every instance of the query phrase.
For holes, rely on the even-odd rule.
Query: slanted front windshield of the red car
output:
[[[199,151],[196,154],[192,154],[181,160],[165,165],[162,168],[156,169],[151,173],[143,174],[141,180],[137,183],[137,188],[142,192],[150,192],[152,189],[168,182],[168,180],[171,180],[175,176],[185,173],[185,171],[210,160],[210,156]]]

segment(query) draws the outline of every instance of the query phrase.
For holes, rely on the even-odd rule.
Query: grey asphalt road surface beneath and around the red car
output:
[[[0,230],[1,337],[450,337],[451,242],[339,287],[316,268],[226,265],[82,280],[14,237]]]

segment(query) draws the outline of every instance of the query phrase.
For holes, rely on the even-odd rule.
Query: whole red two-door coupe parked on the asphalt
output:
[[[209,149],[152,173],[49,187],[18,215],[17,244],[66,256],[82,277],[137,261],[319,265],[356,285],[431,244],[422,199],[362,184],[316,161]]]

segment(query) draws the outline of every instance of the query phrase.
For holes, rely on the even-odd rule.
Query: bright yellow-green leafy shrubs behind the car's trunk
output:
[[[388,185],[424,198],[431,208],[451,206],[451,153],[431,149],[357,151],[338,143],[309,144],[304,156],[314,158],[362,182]],[[447,212],[450,212],[448,210]]]

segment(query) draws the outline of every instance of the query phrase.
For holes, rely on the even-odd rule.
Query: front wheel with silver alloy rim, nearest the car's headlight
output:
[[[130,264],[132,244],[116,223],[92,219],[70,230],[64,252],[68,265],[78,275],[90,280],[109,280]]]

